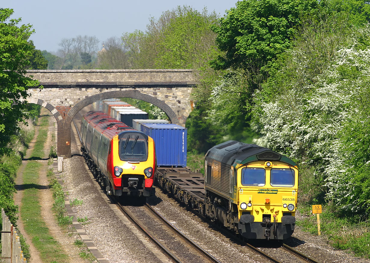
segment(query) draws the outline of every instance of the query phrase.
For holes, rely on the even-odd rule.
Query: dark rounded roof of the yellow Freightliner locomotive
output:
[[[257,160],[279,160],[297,166],[291,159],[273,150],[256,144],[241,143],[232,140],[209,149],[206,154],[206,160],[209,161],[210,159],[230,166],[232,165],[233,167],[236,164],[246,164]]]

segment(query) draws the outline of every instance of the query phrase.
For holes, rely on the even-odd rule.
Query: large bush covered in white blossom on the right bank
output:
[[[298,64],[302,63],[300,51],[292,51],[292,61],[297,63],[297,79],[287,87],[279,87],[280,94],[272,102],[266,103],[259,94],[255,96],[258,107],[255,112],[262,114],[259,116],[263,126],[260,132],[264,134],[255,142],[270,145],[293,159],[314,166],[316,172],[326,178],[326,197],[354,212],[361,204],[356,203],[357,197],[353,195],[355,182],[351,180],[354,176],[347,172],[353,166],[343,164],[351,154],[346,151],[350,147],[356,149],[356,145],[344,144],[341,138],[347,124],[361,123],[361,112],[370,107],[367,106],[370,47],[360,43],[360,37],[370,42],[369,24],[354,29],[349,45],[338,49],[334,61],[314,77],[314,83],[306,86],[302,86],[298,78],[304,75],[299,71],[306,70],[303,68],[307,65]],[[366,164],[370,164],[370,160]]]

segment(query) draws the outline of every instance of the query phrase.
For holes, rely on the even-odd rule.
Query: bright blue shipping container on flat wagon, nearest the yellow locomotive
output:
[[[141,124],[141,131],[154,140],[158,166],[186,167],[185,127],[172,123],[145,123]]]

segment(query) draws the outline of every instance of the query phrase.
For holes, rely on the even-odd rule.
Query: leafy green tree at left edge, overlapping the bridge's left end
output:
[[[40,84],[24,76],[34,50],[27,40],[34,30],[30,24],[18,27],[21,19],[10,19],[12,14],[13,9],[0,9],[0,154],[9,151],[7,143],[19,130],[28,87]]]

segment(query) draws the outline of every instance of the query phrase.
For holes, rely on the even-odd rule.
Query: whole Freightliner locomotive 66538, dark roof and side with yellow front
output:
[[[248,239],[294,231],[298,169],[279,153],[228,141],[206,155],[205,212]]]

